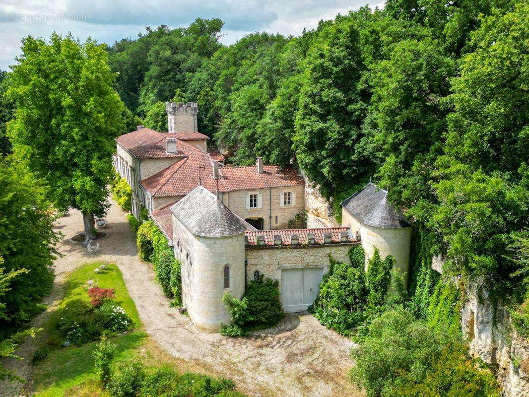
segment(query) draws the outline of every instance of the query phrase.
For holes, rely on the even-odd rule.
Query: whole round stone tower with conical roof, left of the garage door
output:
[[[181,261],[183,304],[201,330],[230,323],[222,297],[244,293],[245,222],[198,186],[171,207],[173,247]]]

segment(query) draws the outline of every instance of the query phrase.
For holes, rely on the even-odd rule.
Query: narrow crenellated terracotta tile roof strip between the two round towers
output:
[[[308,241],[309,235],[314,237],[314,244],[323,243],[339,243],[339,242],[357,242],[352,236],[351,229],[349,227],[340,228],[320,228],[320,229],[285,229],[285,230],[259,230],[259,231],[247,231],[244,233],[245,245],[247,246],[273,246],[275,244],[275,236],[281,236],[280,245],[289,246],[292,244],[292,238],[298,238],[297,245],[304,245],[311,243]],[[265,237],[264,243],[259,241],[259,237]],[[330,237],[331,241],[325,242],[325,237]],[[343,239],[342,239],[343,237]],[[262,241],[262,240],[261,240]]]

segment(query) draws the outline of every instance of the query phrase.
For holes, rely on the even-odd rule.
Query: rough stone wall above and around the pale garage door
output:
[[[329,272],[329,254],[336,260],[349,261],[349,250],[358,244],[358,242],[347,242],[317,246],[247,246],[245,247],[246,276],[251,280],[253,273],[258,270],[260,274],[276,279],[281,284],[283,269],[321,267],[325,274]]]

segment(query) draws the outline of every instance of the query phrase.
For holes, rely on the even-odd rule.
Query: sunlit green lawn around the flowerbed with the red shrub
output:
[[[75,299],[88,299],[87,281],[92,280],[94,285],[102,288],[114,288],[116,303],[120,304],[130,318],[134,321],[134,331],[125,335],[111,338],[117,346],[115,362],[125,359],[133,359],[139,356],[140,348],[147,338],[147,334],[141,330],[142,324],[138,317],[138,311],[134,301],[126,290],[125,283],[120,270],[116,265],[107,265],[99,273],[94,269],[101,263],[86,264],[71,273],[65,284],[65,295],[59,307],[65,306],[69,301]],[[50,333],[51,320],[44,324],[42,332]],[[90,342],[83,346],[69,346],[52,351],[42,362],[35,364],[33,382],[30,386],[35,396],[56,397],[65,395],[65,392],[81,382],[94,380],[94,358],[92,351],[97,342]]]

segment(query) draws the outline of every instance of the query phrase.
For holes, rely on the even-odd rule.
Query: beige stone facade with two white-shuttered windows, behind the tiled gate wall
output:
[[[236,215],[242,219],[262,218],[264,220],[264,229],[287,229],[288,221],[294,218],[298,212],[305,209],[304,200],[305,186],[288,186],[272,187],[267,189],[256,190],[238,190],[221,193],[221,201]],[[280,205],[280,194],[284,192],[293,192],[296,196],[296,202],[291,206]],[[260,194],[261,207],[257,209],[246,208],[246,195]]]

